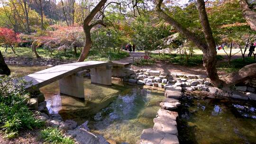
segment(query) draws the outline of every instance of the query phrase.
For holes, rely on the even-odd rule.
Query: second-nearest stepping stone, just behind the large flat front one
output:
[[[165,118],[154,118],[153,129],[163,131],[168,134],[178,135],[177,123],[175,120],[167,120]]]

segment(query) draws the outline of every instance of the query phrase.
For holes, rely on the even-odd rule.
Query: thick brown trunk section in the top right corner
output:
[[[239,4],[243,11],[243,17],[252,30],[256,30],[256,12],[249,8],[246,0],[240,0]]]

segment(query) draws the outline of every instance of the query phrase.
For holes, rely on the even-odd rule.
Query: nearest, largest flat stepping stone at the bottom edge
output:
[[[179,144],[178,137],[152,128],[144,129],[139,144]]]

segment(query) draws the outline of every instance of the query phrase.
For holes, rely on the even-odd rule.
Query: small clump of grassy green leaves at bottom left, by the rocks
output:
[[[71,138],[64,137],[57,128],[46,128],[41,132],[41,138],[50,144],[74,144]]]

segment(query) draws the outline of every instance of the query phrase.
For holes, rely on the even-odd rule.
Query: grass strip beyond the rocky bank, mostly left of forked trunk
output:
[[[186,56],[182,58],[181,54],[151,54],[151,58],[157,61],[164,61],[167,63],[174,63],[180,65],[187,65],[187,66],[195,66],[203,64],[202,58],[203,55],[201,54],[193,54],[192,57],[189,57],[186,60]],[[222,60],[223,57],[221,55],[217,55],[217,60]]]

